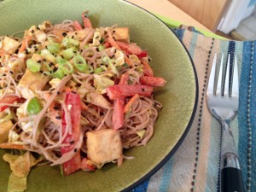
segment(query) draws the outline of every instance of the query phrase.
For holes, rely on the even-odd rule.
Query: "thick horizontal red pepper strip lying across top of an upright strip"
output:
[[[108,86],[107,93],[110,99],[117,99],[121,96],[151,96],[153,87],[137,84],[115,84]]]

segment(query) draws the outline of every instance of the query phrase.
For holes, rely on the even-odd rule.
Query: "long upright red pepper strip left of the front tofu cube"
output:
[[[81,116],[81,102],[80,102],[80,96],[77,93],[73,92],[67,92],[65,97],[65,104],[67,105],[67,108],[70,110],[70,119],[71,119],[71,125],[72,125],[72,134],[67,134],[67,137],[65,137],[63,143],[69,143],[69,146],[61,147],[61,154],[66,154],[70,152],[71,150],[74,151],[74,153],[77,153],[73,159],[68,160],[67,162],[62,164],[62,172],[64,175],[69,175],[73,172],[76,172],[81,167],[81,156],[79,149],[74,148],[76,143],[79,141],[79,137],[82,134],[81,128],[80,128],[80,116]],[[65,118],[65,112],[63,110],[62,113],[62,134],[67,129],[67,120]]]

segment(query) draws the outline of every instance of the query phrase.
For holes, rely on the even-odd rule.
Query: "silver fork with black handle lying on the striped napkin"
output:
[[[221,57],[219,74],[216,75],[217,54],[214,55],[212,70],[207,87],[207,106],[212,116],[218,119],[222,127],[222,147],[221,147],[221,192],[244,191],[241,169],[236,145],[232,135],[230,121],[236,117],[239,104],[239,80],[237,59],[233,66],[232,80],[230,81],[230,55],[226,67],[224,83],[222,76],[224,73],[224,55]],[[214,91],[215,77],[218,78],[217,89]],[[224,88],[222,85],[224,84]],[[223,91],[224,90],[224,91]]]

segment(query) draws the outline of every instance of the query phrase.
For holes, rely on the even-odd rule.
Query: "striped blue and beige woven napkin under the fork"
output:
[[[231,121],[246,191],[256,191],[256,42],[208,38],[191,29],[174,29],[189,50],[199,81],[194,123],[166,164],[134,192],[219,191],[220,124],[207,109],[207,82],[214,53],[237,56],[240,74],[239,112]]]

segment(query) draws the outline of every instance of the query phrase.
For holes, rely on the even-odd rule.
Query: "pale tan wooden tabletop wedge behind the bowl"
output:
[[[127,0],[127,2],[134,3],[154,14],[163,15],[171,18],[172,20],[177,20],[183,23],[183,25],[195,26],[201,30],[210,32],[206,26],[203,26],[200,22],[184,13],[183,10],[178,9],[167,0]]]

